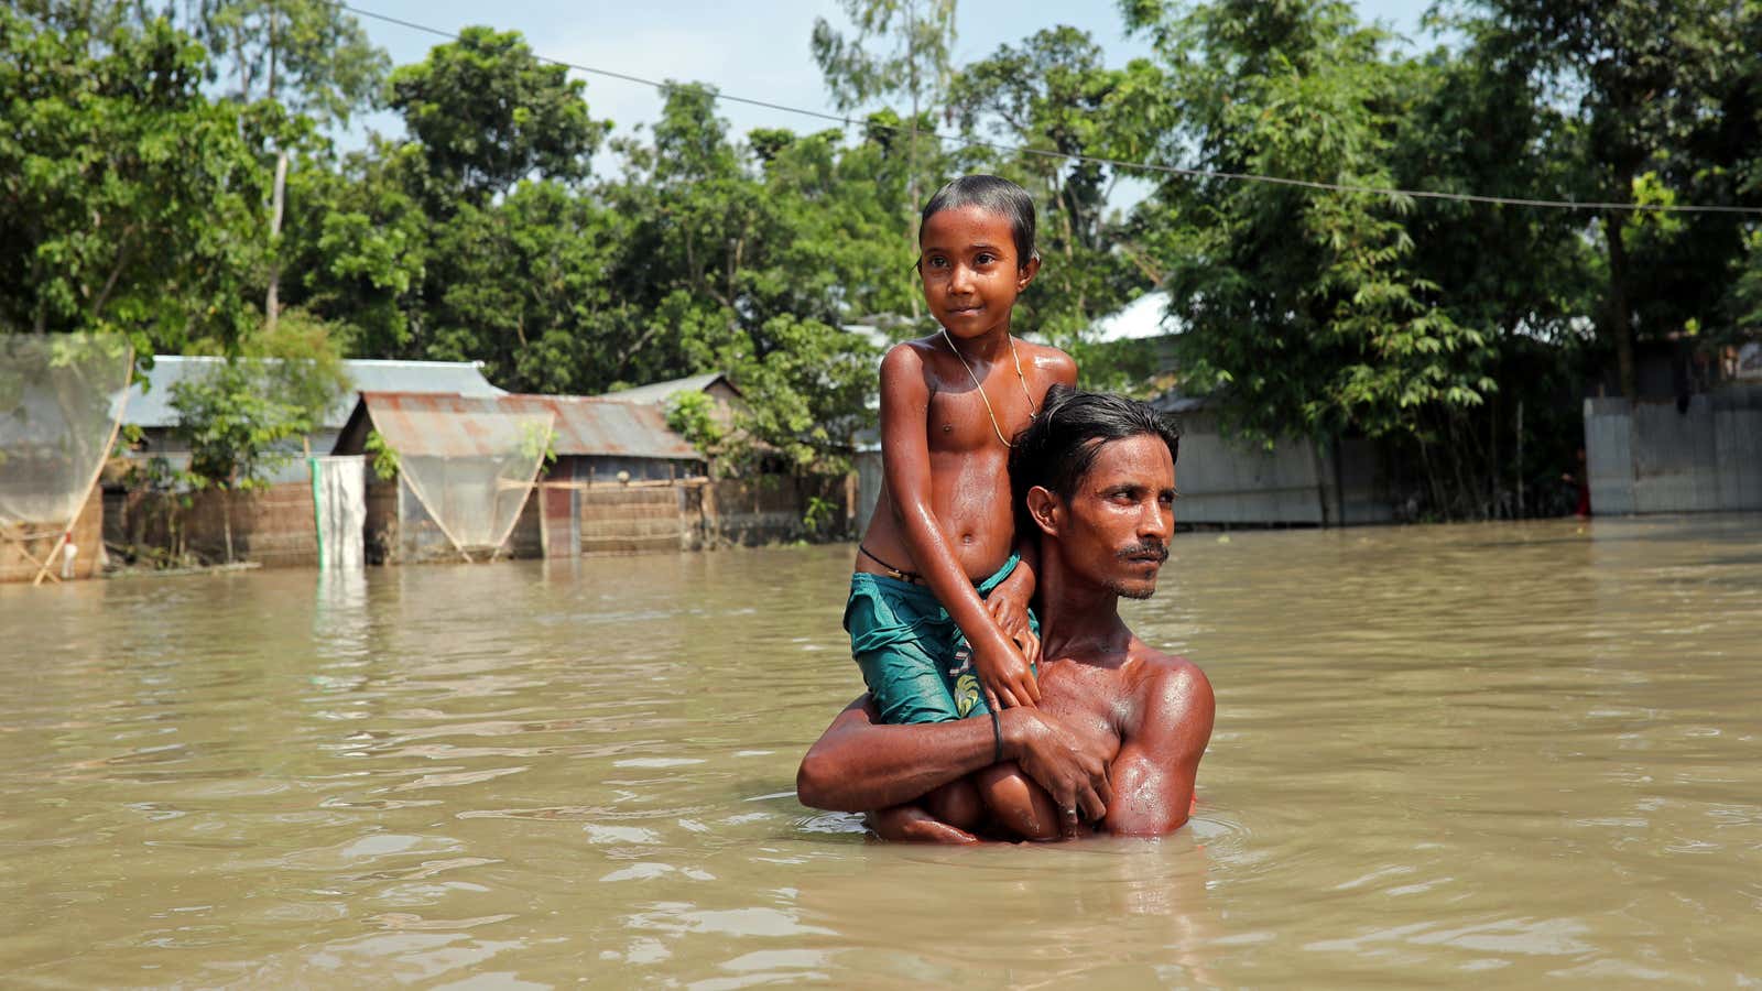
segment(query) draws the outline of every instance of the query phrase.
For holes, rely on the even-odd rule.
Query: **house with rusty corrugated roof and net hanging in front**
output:
[[[366,457],[368,561],[573,557],[701,540],[692,494],[703,455],[647,404],[363,391],[333,453]]]

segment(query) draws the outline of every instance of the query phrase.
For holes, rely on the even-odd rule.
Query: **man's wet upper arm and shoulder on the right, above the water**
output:
[[[1114,802],[1101,827],[1121,836],[1161,836],[1188,822],[1193,779],[1210,741],[1216,700],[1205,674],[1173,661],[1152,675],[1136,725],[1128,726],[1110,774]]]

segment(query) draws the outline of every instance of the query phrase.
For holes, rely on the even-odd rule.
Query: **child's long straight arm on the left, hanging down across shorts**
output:
[[[1034,705],[1040,686],[1027,659],[997,628],[930,508],[929,416],[923,358],[911,346],[893,347],[881,361],[881,467],[906,547],[936,601],[967,635],[974,668],[996,672],[996,684],[987,682],[987,691],[1004,705]]]

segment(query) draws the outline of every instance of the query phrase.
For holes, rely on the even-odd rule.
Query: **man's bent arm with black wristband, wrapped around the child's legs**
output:
[[[1110,737],[1077,734],[1036,709],[1006,709],[999,726],[1004,760],[1017,760],[1059,808],[1101,818],[1110,799]],[[863,695],[809,748],[795,792],[816,809],[883,809],[988,767],[994,756],[990,719],[890,726]]]

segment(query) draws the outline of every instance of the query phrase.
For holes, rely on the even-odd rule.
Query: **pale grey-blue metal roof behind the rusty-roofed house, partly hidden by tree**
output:
[[[176,427],[171,386],[220,365],[226,358],[155,354],[153,370],[136,376],[129,386],[123,423],[136,427]],[[481,361],[388,361],[352,358],[342,363],[354,391],[344,393],[324,411],[322,428],[340,430],[354,411],[356,391],[437,391],[458,395],[507,395],[483,377]],[[148,388],[152,386],[152,388]]]

